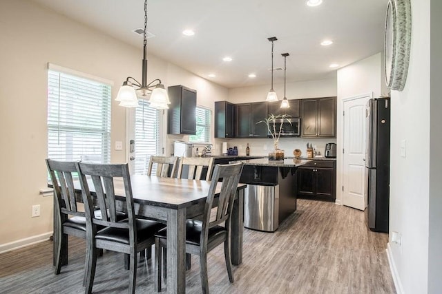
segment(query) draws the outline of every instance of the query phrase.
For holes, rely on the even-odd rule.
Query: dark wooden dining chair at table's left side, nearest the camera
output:
[[[97,265],[97,248],[129,255],[128,293],[135,293],[137,253],[154,244],[154,233],[165,227],[160,222],[135,218],[131,177],[128,165],[90,164],[77,162],[81,193],[86,211],[86,293],[91,293]],[[88,179],[91,178],[90,182]],[[115,197],[114,181],[122,181],[124,198]],[[93,213],[93,198],[89,185],[94,188],[101,218]],[[123,191],[121,191],[123,192]],[[124,202],[126,220],[118,221],[117,201]],[[97,229],[98,226],[104,229]]]

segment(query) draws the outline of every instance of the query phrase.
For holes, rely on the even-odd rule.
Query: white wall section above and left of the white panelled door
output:
[[[343,113],[343,99],[372,93],[373,97],[386,94],[383,78],[382,54],[374,54],[366,59],[357,61],[338,70],[338,114]],[[338,115],[337,120],[337,148],[343,148],[343,116]],[[336,203],[342,203],[343,193],[343,154],[336,156]]]

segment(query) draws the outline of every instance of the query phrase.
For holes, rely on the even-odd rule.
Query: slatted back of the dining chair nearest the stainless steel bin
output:
[[[215,165],[209,194],[206,199],[206,206],[204,207],[202,230],[205,235],[207,235],[209,228],[214,227],[221,222],[225,221],[226,227],[230,225],[233,200],[235,198],[238,182],[240,181],[241,172],[242,162],[234,163],[231,165]],[[221,191],[218,198],[218,207],[216,207],[215,220],[210,221],[211,209],[213,207],[216,187],[218,185],[218,180],[220,180],[221,178]],[[204,234],[202,234],[202,238]],[[201,242],[203,242],[203,240],[201,240]]]

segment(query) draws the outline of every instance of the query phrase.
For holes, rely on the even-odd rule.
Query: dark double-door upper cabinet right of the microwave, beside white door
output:
[[[336,97],[302,99],[300,105],[301,137],[336,137]]]

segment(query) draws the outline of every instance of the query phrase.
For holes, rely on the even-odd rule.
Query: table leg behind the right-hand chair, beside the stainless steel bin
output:
[[[238,198],[233,203],[231,216],[231,259],[232,264],[242,263],[242,231],[244,228],[244,189],[236,192]]]

